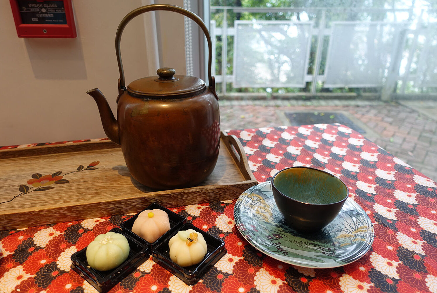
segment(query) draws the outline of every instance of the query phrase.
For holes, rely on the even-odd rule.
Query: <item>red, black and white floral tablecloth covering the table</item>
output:
[[[349,187],[374,223],[363,258],[333,269],[288,265],[263,255],[235,227],[234,201],[174,208],[225,241],[227,254],[194,286],[146,260],[110,292],[292,293],[437,292],[437,184],[359,133],[317,124],[231,130],[259,182],[279,170],[312,166]],[[130,215],[0,231],[0,293],[97,292],[70,270],[70,256]]]

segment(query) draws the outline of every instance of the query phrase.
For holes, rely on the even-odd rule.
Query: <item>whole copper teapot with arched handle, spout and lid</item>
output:
[[[153,10],[183,14],[195,21],[208,42],[208,87],[197,77],[176,75],[172,68],[157,70],[125,87],[120,40],[126,24]],[[211,75],[212,43],[205,24],[181,7],[152,4],[128,13],[117,29],[115,51],[120,71],[117,118],[97,88],[87,91],[97,103],[103,128],[121,146],[132,177],[150,188],[174,189],[198,185],[213,171],[220,146],[220,113]]]

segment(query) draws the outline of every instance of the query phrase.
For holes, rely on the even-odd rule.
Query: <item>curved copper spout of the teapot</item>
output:
[[[114,118],[114,114],[112,114],[112,110],[109,107],[108,101],[106,101],[106,98],[98,88],[87,91],[87,94],[93,97],[94,101],[97,103],[97,108],[99,108],[100,118],[102,120],[105,134],[110,140],[119,145],[120,138],[118,135],[118,123]]]

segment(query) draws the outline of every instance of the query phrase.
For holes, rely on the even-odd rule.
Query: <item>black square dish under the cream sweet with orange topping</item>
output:
[[[188,229],[193,229],[203,235],[208,251],[205,255],[205,258],[203,258],[203,260],[197,265],[181,267],[170,259],[170,248],[168,247],[168,242],[171,237],[177,234],[178,231]],[[196,284],[202,278],[202,276],[208,272],[208,270],[225,254],[226,248],[224,241],[215,238],[214,236],[190,223],[180,227],[177,231],[173,231],[173,233],[170,235],[167,234],[167,237],[160,241],[158,245],[154,246],[152,251],[154,262],[161,265],[164,269],[168,270],[190,286]]]

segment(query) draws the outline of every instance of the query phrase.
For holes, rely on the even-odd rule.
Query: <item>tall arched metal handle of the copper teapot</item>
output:
[[[119,96],[122,92],[126,90],[125,73],[123,71],[123,63],[121,62],[121,52],[120,52],[121,34],[125,29],[126,24],[128,24],[128,22],[131,21],[132,18],[138,16],[139,14],[143,14],[145,12],[154,11],[154,10],[166,10],[166,11],[177,12],[188,18],[191,18],[195,23],[197,23],[200,26],[208,42],[208,84],[209,84],[208,87],[212,91],[212,94],[214,94],[215,98],[218,100],[218,95],[215,92],[215,80],[214,77],[211,75],[211,66],[212,66],[211,36],[209,35],[205,23],[202,21],[200,17],[198,17],[196,14],[192,13],[191,11],[181,8],[179,6],[169,5],[169,4],[151,4],[151,5],[139,7],[126,14],[126,16],[121,20],[120,24],[118,25],[117,33],[115,34],[115,53],[117,55],[118,70],[120,71],[120,80],[118,81]]]

